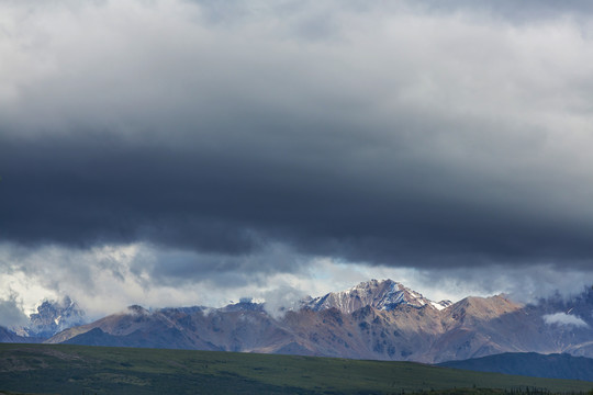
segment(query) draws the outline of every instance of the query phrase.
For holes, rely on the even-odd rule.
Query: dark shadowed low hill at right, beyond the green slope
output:
[[[465,361],[449,361],[439,365],[479,372],[593,382],[593,359],[570,354],[507,352]]]

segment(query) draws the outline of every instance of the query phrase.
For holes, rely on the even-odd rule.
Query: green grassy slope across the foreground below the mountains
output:
[[[588,393],[591,382],[410,362],[66,345],[0,345],[0,394]],[[455,391],[444,391],[444,390]],[[468,388],[461,391],[459,388]],[[500,388],[485,391],[480,388]]]

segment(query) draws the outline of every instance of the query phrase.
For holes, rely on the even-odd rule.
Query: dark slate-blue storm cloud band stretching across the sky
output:
[[[303,133],[314,139],[315,131]],[[538,212],[533,191],[513,191],[526,194],[524,205],[501,204],[482,180],[414,160],[359,161],[357,146],[312,153],[279,142],[210,151],[187,144],[174,149],[105,134],[3,139],[2,238],[77,247],[148,240],[221,253],[281,241],[307,253],[417,264],[589,262],[593,252],[591,224]],[[301,165],[282,153],[307,159]]]

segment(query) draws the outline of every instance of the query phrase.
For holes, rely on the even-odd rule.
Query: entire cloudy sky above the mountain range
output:
[[[0,325],[593,283],[589,1],[0,0]]]

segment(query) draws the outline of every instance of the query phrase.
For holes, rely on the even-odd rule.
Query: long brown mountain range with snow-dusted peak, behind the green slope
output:
[[[47,340],[356,359],[443,362],[502,352],[593,357],[593,291],[521,305],[503,296],[435,303],[391,280],[303,301],[281,317],[265,305],[132,306]]]

